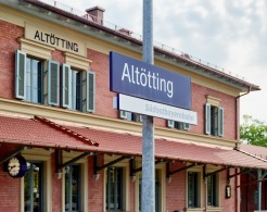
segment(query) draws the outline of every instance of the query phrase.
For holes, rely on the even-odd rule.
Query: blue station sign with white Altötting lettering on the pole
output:
[[[110,52],[111,91],[191,109],[191,78]]]

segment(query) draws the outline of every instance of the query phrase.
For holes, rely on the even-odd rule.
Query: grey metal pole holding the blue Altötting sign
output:
[[[153,64],[153,0],[143,0],[143,61]],[[142,212],[155,212],[153,117],[142,117]]]

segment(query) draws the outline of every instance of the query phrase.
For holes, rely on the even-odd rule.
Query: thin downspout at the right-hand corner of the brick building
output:
[[[239,95],[238,97],[236,97],[236,149],[240,149],[240,98],[249,95],[251,92],[252,89],[252,85],[249,87],[247,92],[243,93],[243,95]],[[237,174],[238,169],[234,169],[234,172]],[[239,205],[239,198],[240,198],[240,189],[238,188],[238,184],[240,184],[240,180],[238,180],[238,176],[234,176],[234,187],[236,187],[236,192],[234,192],[234,208],[236,211],[240,211],[240,205]]]

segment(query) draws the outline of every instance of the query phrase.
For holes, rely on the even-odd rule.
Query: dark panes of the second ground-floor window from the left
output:
[[[65,167],[65,211],[81,210],[80,176],[80,165],[73,164]]]

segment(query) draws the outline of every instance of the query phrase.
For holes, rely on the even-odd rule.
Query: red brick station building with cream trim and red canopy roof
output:
[[[101,8],[79,15],[51,2],[0,1],[0,211],[138,212],[142,116],[113,108],[109,53],[140,60],[142,42]],[[267,164],[240,149],[239,100],[259,87],[154,55],[191,77],[198,113],[196,126],[154,117],[156,212],[243,212],[240,174]]]

